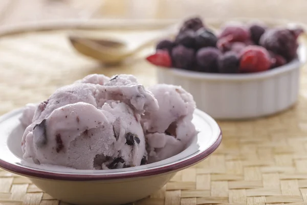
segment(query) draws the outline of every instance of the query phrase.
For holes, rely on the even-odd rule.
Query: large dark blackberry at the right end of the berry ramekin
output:
[[[267,30],[260,38],[260,45],[281,55],[287,61],[296,57],[298,48],[295,33],[281,28]]]

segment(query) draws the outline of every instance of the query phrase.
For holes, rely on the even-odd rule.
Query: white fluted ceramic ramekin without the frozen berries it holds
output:
[[[259,20],[259,19],[257,19]],[[260,19],[269,27],[295,26],[285,20]],[[205,19],[217,31],[225,22],[253,22],[255,19]],[[304,27],[303,25],[300,25]],[[190,92],[199,109],[215,119],[246,119],[286,110],[298,99],[300,66],[306,48],[300,45],[299,59],[265,72],[211,74],[176,68],[158,68],[158,83],[180,85]]]

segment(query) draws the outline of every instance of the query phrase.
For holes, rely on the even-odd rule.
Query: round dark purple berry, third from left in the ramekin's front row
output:
[[[201,72],[217,73],[217,59],[222,53],[217,48],[202,48],[196,53],[196,61]]]

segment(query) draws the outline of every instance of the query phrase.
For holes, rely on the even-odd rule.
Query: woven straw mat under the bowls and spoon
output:
[[[155,83],[145,61],[102,68],[71,49],[65,31],[0,39],[0,114],[46,99],[56,88],[90,73],[131,73]],[[306,88],[306,89],[304,89]],[[299,103],[275,116],[220,121],[221,146],[198,165],[136,204],[307,204],[307,73],[302,69]],[[65,204],[27,178],[0,170],[0,204]]]

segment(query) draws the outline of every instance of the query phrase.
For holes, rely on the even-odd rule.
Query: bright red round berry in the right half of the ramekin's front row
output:
[[[261,46],[247,46],[242,50],[240,56],[240,71],[260,72],[271,67],[269,52]]]

